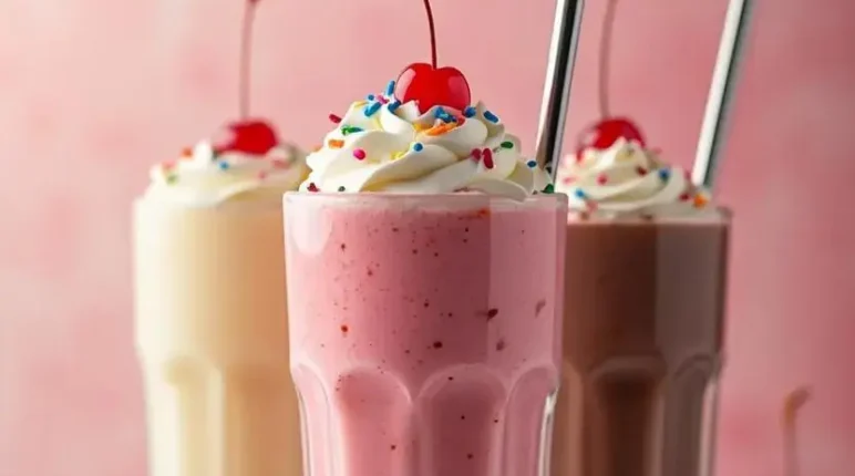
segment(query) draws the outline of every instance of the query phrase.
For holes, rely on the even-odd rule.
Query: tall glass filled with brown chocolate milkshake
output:
[[[730,214],[567,224],[554,476],[709,475]]]

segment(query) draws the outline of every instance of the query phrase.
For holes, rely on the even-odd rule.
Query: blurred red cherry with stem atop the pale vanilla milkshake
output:
[[[246,0],[244,27],[240,40],[240,121],[226,124],[225,134],[218,138],[214,148],[218,154],[239,152],[250,155],[264,155],[279,145],[274,127],[264,120],[249,118],[249,83],[253,65],[253,25],[256,8],[260,0]]]

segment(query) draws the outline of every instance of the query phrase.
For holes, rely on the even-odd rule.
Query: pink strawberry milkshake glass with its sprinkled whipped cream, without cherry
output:
[[[398,87],[285,197],[305,474],[545,476],[566,197],[482,104]]]

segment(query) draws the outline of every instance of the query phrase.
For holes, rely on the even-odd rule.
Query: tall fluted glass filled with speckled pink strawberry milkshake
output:
[[[286,194],[308,476],[544,476],[567,204]]]

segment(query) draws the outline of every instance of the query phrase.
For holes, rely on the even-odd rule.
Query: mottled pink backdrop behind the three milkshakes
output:
[[[435,0],[441,62],[533,146],[553,2]],[[612,107],[689,164],[725,0],[624,0]],[[720,197],[738,213],[720,474],[781,475],[801,384],[804,475],[855,467],[855,3],[759,0]],[[589,0],[569,130],[595,114]],[[0,2],[0,476],[142,476],[128,204],[146,167],[235,110],[240,0]],[[267,0],[257,111],[306,145],[422,60],[416,0]],[[848,45],[848,51],[847,51]],[[844,363],[846,362],[846,363]],[[848,376],[847,376],[848,375]]]

